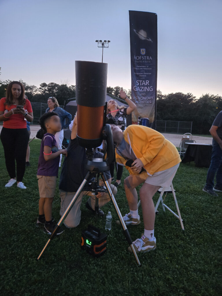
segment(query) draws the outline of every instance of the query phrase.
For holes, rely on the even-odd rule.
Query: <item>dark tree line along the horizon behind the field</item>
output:
[[[64,105],[68,99],[75,98],[75,85],[68,85],[50,82],[41,83],[39,87],[28,85],[20,80],[25,87],[25,94],[31,102],[46,103],[50,96],[57,98],[59,105]],[[0,80],[0,98],[5,96],[10,80]],[[107,93],[115,97],[119,96],[120,86],[107,86]],[[131,97],[131,90],[125,90],[128,97]],[[216,115],[222,110],[222,97],[213,94],[204,94],[196,98],[191,93],[162,94],[157,91],[157,120],[192,121],[192,132],[208,134],[210,126]]]

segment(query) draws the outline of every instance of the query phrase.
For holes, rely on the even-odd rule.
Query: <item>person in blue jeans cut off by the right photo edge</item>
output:
[[[213,137],[213,149],[203,191],[210,195],[218,196],[215,191],[222,192],[222,111],[216,116],[210,128],[210,134]],[[216,185],[214,186],[215,175]]]

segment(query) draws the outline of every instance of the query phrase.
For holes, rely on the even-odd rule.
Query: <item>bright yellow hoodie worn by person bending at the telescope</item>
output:
[[[123,132],[123,138],[151,175],[172,168],[181,162],[176,147],[152,128],[133,124]],[[115,155],[116,162],[125,165],[126,160],[118,154],[117,149],[115,149]],[[126,168],[130,174],[135,175],[128,166]]]

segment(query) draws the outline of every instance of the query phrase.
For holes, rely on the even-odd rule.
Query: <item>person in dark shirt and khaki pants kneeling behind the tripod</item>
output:
[[[79,186],[83,182],[87,170],[85,169],[86,163],[86,152],[85,148],[78,145],[76,139],[77,133],[77,114],[73,120],[73,128],[70,137],[70,142],[68,145],[68,156],[65,158],[62,171],[60,175],[60,182],[59,182],[59,190],[60,190],[60,198],[61,198],[61,209],[60,215],[62,216],[67,209],[68,205],[70,204],[71,200],[73,199],[76,191],[79,189]],[[103,154],[101,152],[94,152],[93,157],[102,158]],[[111,175],[110,171],[105,171],[108,183],[110,184],[110,188],[115,196],[117,193],[117,189],[114,185],[111,184]],[[102,179],[99,180],[99,185],[103,186],[104,183]],[[68,228],[76,227],[80,223],[81,219],[81,202],[83,195],[89,195],[89,199],[86,202],[86,207],[95,213],[95,196],[92,195],[92,192],[89,191],[82,191],[79,195],[78,199],[75,201],[73,207],[71,208],[70,212],[68,213],[67,217],[65,218],[64,225]],[[99,192],[96,196],[99,200],[99,207],[102,207],[107,202],[110,201],[110,196],[107,192]],[[98,211],[99,216],[104,216],[104,213],[101,209]]]

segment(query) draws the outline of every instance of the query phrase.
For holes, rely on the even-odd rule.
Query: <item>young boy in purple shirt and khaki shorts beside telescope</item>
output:
[[[67,156],[67,150],[59,150],[55,134],[61,130],[59,116],[55,112],[47,112],[39,119],[39,124],[46,133],[41,141],[40,155],[38,159],[38,190],[39,190],[39,216],[38,224],[45,224],[44,229],[48,234],[54,230],[55,223],[52,219],[52,202],[58,177],[60,154]],[[57,231],[57,235],[63,231]]]

